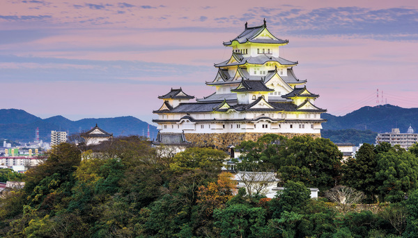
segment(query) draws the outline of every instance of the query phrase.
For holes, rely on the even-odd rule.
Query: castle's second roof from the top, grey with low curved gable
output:
[[[238,58],[235,58],[238,59]],[[277,62],[279,64],[281,64],[282,66],[295,66],[298,64],[297,61],[290,61],[281,57],[273,57],[273,56],[268,56],[265,54],[260,54],[256,57],[242,57],[241,60],[237,60],[237,61],[230,61],[226,60],[223,61],[219,64],[214,64],[215,67],[225,67],[225,66],[238,66],[238,65],[242,65],[242,64],[259,64],[259,65],[263,65],[267,62]]]

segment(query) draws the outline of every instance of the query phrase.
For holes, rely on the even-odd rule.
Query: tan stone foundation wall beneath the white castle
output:
[[[216,149],[226,149],[230,144],[238,145],[243,140],[256,141],[266,133],[185,133],[186,140],[192,142],[197,147],[215,147]],[[320,137],[318,134],[301,133],[272,133],[283,135],[288,138],[297,135],[309,135],[311,137]]]

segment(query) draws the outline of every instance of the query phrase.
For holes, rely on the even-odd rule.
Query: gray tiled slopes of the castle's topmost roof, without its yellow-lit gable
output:
[[[231,45],[234,40],[238,41],[238,43],[246,43],[247,41],[251,43],[270,43],[270,44],[284,44],[288,43],[288,40],[281,40],[274,36],[276,39],[254,39],[258,34],[260,34],[264,29],[267,27],[265,24],[258,26],[258,27],[245,27],[245,30],[242,33],[235,37],[233,40],[229,40],[229,42],[224,42],[224,45]],[[269,31],[270,32],[270,31]],[[271,34],[271,33],[270,33]]]

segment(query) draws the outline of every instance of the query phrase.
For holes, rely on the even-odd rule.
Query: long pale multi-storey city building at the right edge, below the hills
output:
[[[399,128],[392,128],[392,132],[389,133],[378,133],[376,137],[376,144],[388,142],[392,146],[399,144],[402,148],[408,149],[418,142],[418,134],[414,133],[414,130],[410,126],[407,133],[401,133]]]

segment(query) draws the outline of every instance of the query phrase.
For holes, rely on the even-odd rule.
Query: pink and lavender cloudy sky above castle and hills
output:
[[[418,107],[415,0],[1,0],[0,108],[151,122],[171,88],[202,98],[223,42],[263,24],[334,115]],[[379,90],[379,103],[376,91]],[[383,92],[383,94],[382,94]]]

